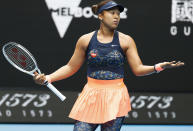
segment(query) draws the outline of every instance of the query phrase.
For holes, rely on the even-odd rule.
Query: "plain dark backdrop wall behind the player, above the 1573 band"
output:
[[[76,41],[86,33],[99,28],[99,21],[95,17],[89,17],[89,9],[98,1],[60,0],[1,0],[0,1],[0,47],[8,41],[15,41],[24,45],[35,56],[42,72],[49,74],[63,66],[71,58]],[[174,2],[176,0],[173,0]],[[58,1],[59,2],[59,1]],[[71,2],[69,4],[69,2]],[[87,15],[67,16],[68,11],[85,11]],[[125,83],[131,91],[158,91],[158,92],[192,92],[193,81],[193,21],[185,21],[185,15],[181,13],[181,19],[175,23],[171,19],[179,15],[175,9],[172,16],[171,0],[167,1],[118,1],[126,9],[127,19],[121,19],[118,31],[134,38],[139,55],[146,65],[158,62],[181,60],[186,66],[166,70],[160,74],[136,77],[130,71],[129,65],[125,64]],[[63,4],[63,5],[62,5]],[[57,7],[58,6],[58,7]],[[72,7],[74,6],[74,7]],[[182,5],[183,6],[183,5]],[[49,7],[49,8],[48,8]],[[191,7],[191,5],[190,5]],[[183,9],[183,7],[181,7]],[[181,11],[183,11],[181,9]],[[52,10],[52,11],[51,11]],[[53,12],[55,10],[56,12]],[[63,13],[62,13],[63,10]],[[66,33],[59,35],[56,21],[52,15],[57,14],[64,21],[72,17]],[[81,13],[81,11],[79,12]],[[86,18],[89,17],[89,18]],[[184,17],[184,18],[183,18]],[[59,22],[61,27],[65,26]],[[65,22],[64,22],[65,23]],[[171,33],[171,29],[173,33]],[[185,35],[188,30],[189,34]],[[175,34],[177,31],[177,34]],[[172,35],[173,34],[173,35]],[[0,87],[35,87],[32,78],[14,69],[0,55]],[[61,90],[81,91],[86,82],[86,63],[72,77],[54,83]]]

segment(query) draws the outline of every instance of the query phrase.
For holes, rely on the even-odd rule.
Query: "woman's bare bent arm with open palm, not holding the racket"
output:
[[[136,76],[149,75],[152,73],[162,71],[164,69],[180,67],[184,65],[184,63],[181,61],[161,62],[153,66],[143,65],[138,55],[135,41],[130,36],[128,36],[127,38],[127,49],[125,52],[131,70]]]

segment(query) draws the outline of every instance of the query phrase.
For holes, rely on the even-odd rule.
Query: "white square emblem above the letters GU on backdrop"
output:
[[[193,23],[193,0],[172,0],[172,23]]]

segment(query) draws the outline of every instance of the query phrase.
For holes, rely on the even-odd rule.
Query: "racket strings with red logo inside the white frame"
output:
[[[32,71],[36,67],[32,58],[17,45],[10,45],[5,49],[5,53],[14,64],[23,70]]]

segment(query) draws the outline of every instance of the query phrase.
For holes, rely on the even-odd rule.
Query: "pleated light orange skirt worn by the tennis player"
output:
[[[130,97],[123,79],[97,80],[88,77],[69,117],[101,124],[125,116],[130,110]]]

